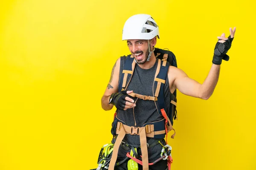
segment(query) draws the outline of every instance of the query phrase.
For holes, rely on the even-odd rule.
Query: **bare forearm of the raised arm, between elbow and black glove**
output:
[[[200,98],[201,99],[209,99],[212,95],[220,75],[220,65],[212,64],[212,67],[209,71],[207,78],[204,80],[204,83],[201,86]]]

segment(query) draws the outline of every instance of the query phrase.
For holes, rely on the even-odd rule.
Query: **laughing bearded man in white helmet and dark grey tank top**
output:
[[[166,79],[162,81],[164,83],[163,90],[166,113],[169,109],[168,104],[171,102],[171,94],[176,89],[188,96],[209,99],[218,82],[222,59],[229,59],[226,53],[231,47],[235,31],[236,28],[233,30],[230,28],[230,37],[226,38],[225,34],[218,37],[219,40],[214,49],[212,66],[203,84],[189,78],[180,68],[169,66]],[[154,54],[157,38],[159,38],[159,28],[150,15],[137,14],[125,22],[122,40],[127,40],[131,57],[136,62],[134,70],[131,73],[132,78],[127,80],[127,87],[120,86],[120,83],[123,83],[123,81],[127,83],[126,80],[123,80],[124,77],[122,74],[124,72],[130,73],[129,71],[124,71],[124,64],[128,57],[120,57],[113,66],[110,82],[102,96],[102,108],[105,111],[111,110],[113,106],[117,109],[116,121],[112,124],[114,135],[112,143],[116,142],[118,144],[114,146],[115,151],[113,151],[111,158],[110,170],[113,170],[116,162],[122,160],[125,161],[119,166],[115,166],[115,169],[134,169],[129,167],[131,166],[131,162],[129,163],[131,159],[125,159],[127,153],[131,151],[133,153],[135,152],[138,159],[142,155],[143,167],[139,164],[138,169],[166,170],[167,168],[167,160],[163,159],[148,166],[150,162],[154,162],[160,158],[161,150],[163,145],[166,145],[166,141],[164,139],[154,139],[154,137],[146,136],[148,134],[144,128],[148,122],[155,123],[163,120],[163,115],[157,109],[157,98],[154,96],[154,90],[152,91],[154,89],[153,83],[156,79],[157,65],[161,62]],[[125,89],[121,90],[120,87],[125,87]],[[134,94],[137,94],[137,96],[134,96]],[[151,100],[149,100],[149,97],[148,100],[144,100],[145,96],[151,96]],[[116,127],[116,122],[119,122],[119,127]],[[124,129],[123,133],[122,129]],[[137,131],[134,133],[135,130]],[[123,136],[119,138],[121,133]],[[143,146],[143,135],[144,137],[146,136],[147,145],[154,143],[153,147]],[[149,142],[150,139],[151,141]],[[152,140],[157,142],[152,142]],[[125,143],[125,145],[122,143]],[[128,149],[125,146],[129,146]],[[116,158],[117,150],[118,156]]]

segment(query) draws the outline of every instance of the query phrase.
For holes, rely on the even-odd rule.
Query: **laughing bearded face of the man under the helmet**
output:
[[[127,45],[137,64],[144,64],[148,58],[148,40],[127,40]]]

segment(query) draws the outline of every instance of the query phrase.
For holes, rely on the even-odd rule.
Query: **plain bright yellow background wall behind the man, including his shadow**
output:
[[[203,82],[217,36],[237,27],[212,97],[177,94],[172,170],[255,170],[254,0],[5,0],[0,5],[0,170],[88,170],[111,141],[101,97],[122,27],[151,14],[157,47]]]

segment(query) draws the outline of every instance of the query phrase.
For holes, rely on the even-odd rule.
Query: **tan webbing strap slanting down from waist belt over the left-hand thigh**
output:
[[[125,129],[123,127],[121,127],[120,133],[116,138],[116,142],[114,144],[114,148],[113,148],[113,151],[112,151],[112,157],[111,157],[109,168],[108,168],[109,170],[114,170],[116,159],[117,159],[117,154],[118,154],[118,150],[119,150],[119,146],[122,142],[122,139],[124,139],[124,137],[125,137]]]

